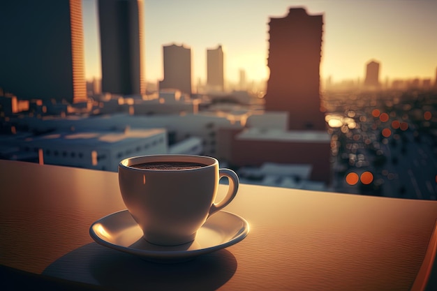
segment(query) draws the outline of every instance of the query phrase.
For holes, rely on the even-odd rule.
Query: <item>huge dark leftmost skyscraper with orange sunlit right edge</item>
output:
[[[0,87],[22,99],[87,100],[82,0],[0,1]]]

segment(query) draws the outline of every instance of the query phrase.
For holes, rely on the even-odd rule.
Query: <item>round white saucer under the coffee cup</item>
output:
[[[138,224],[123,210],[94,222],[89,234],[98,244],[145,260],[180,261],[237,244],[249,234],[249,223],[230,212],[218,211],[200,227],[194,241],[180,246],[156,246],[143,239]]]

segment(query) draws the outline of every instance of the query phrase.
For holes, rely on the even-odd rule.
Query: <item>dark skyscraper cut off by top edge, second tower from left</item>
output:
[[[142,0],[98,0],[102,91],[145,94],[144,3]]]

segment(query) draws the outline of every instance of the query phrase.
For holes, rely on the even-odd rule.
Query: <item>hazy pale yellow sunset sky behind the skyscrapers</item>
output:
[[[82,0],[86,76],[100,77],[96,0]],[[191,47],[193,82],[206,79],[206,51],[225,51],[225,78],[268,78],[269,18],[304,7],[324,15],[322,77],[364,78],[372,59],[380,77],[436,77],[437,0],[145,0],[145,69],[163,78],[163,45]]]

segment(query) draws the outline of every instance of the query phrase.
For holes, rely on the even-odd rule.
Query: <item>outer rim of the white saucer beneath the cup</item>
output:
[[[149,258],[154,260],[171,260],[171,259],[184,259],[184,258],[191,258],[195,257],[197,255],[202,255],[205,253],[212,253],[214,251],[218,251],[222,248],[227,248],[228,246],[232,246],[234,244],[237,244],[239,241],[242,241],[250,231],[250,225],[246,221],[246,219],[242,218],[241,216],[238,216],[237,214],[233,214],[228,211],[217,211],[216,214],[226,214],[230,216],[234,216],[239,221],[243,223],[243,226],[241,229],[236,232],[235,237],[232,237],[232,239],[225,241],[221,244],[216,244],[215,246],[210,246],[207,248],[197,248],[194,250],[186,250],[186,251],[151,251],[151,250],[142,250],[139,248],[130,248],[128,246],[121,246],[119,244],[113,244],[112,242],[103,239],[102,237],[98,236],[96,232],[94,232],[93,227],[97,223],[102,223],[102,221],[105,221],[105,219],[110,218],[111,216],[117,216],[123,213],[128,212],[128,209],[124,209],[121,211],[113,212],[112,214],[108,214],[106,216],[103,216],[102,218],[99,218],[97,221],[94,221],[94,223],[91,224],[89,227],[89,235],[91,236],[96,243],[101,244],[102,246],[106,246],[108,248],[112,248],[117,251],[122,251],[124,253],[131,253],[133,255],[138,255],[142,258]],[[214,214],[214,215],[216,215]],[[132,218],[133,219],[133,218]],[[207,224],[208,221],[205,222],[204,225]],[[202,226],[203,227],[203,226]],[[139,237],[140,239],[141,237]]]

